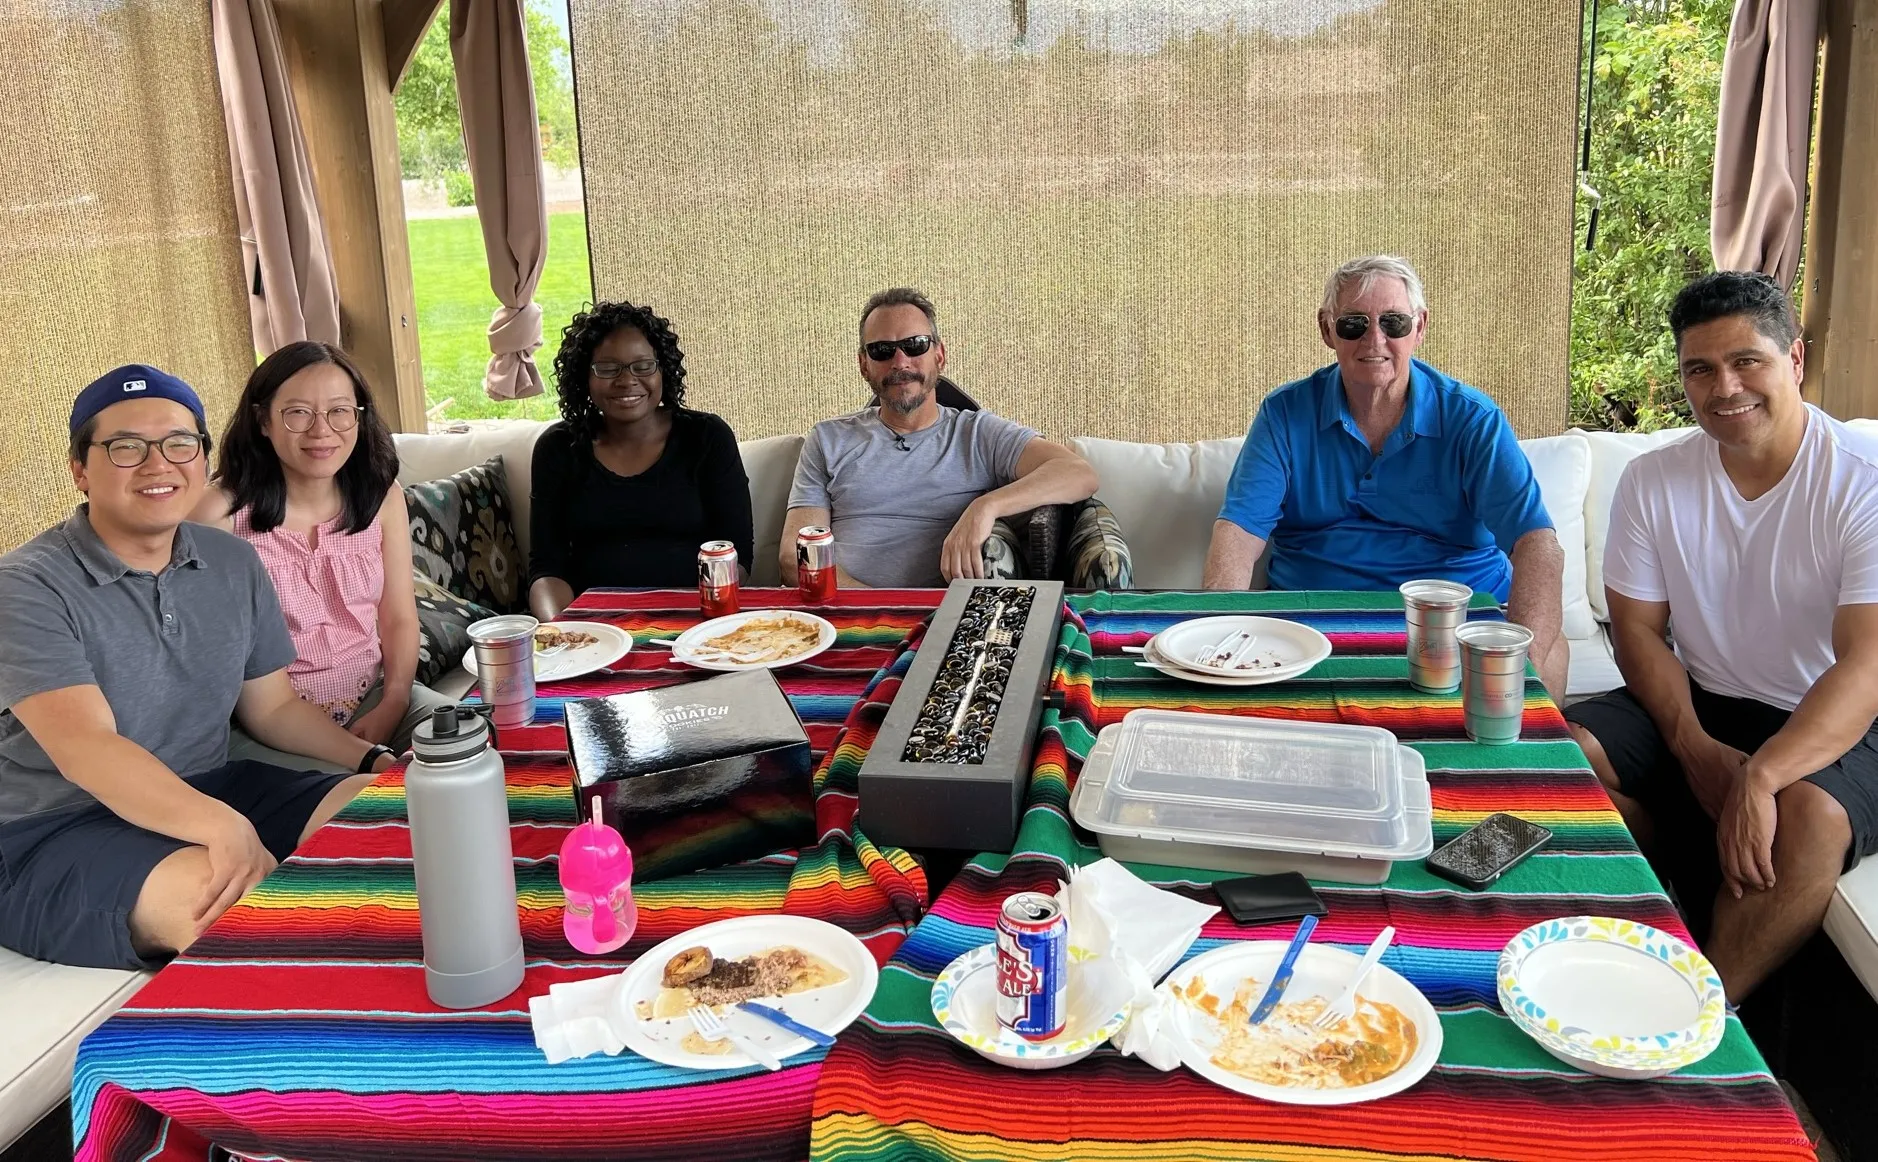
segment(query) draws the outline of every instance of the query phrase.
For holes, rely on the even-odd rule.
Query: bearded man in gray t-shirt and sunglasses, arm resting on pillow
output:
[[[860,375],[875,405],[823,420],[802,443],[779,558],[796,580],[796,533],[834,529],[843,588],[937,588],[984,576],[1001,516],[1095,496],[1095,469],[990,411],[941,407],[945,344],[933,304],[881,291],[860,312]]]

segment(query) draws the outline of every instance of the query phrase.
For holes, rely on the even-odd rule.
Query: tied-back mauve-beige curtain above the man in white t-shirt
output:
[[[1709,248],[1793,287],[1807,218],[1820,0],[1737,0],[1722,62]]]

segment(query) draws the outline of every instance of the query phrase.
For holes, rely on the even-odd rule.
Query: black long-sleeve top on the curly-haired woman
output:
[[[749,477],[731,424],[678,409],[665,451],[622,477],[565,420],[535,441],[528,574],[595,586],[685,588],[699,580],[699,544],[731,541],[749,567]]]

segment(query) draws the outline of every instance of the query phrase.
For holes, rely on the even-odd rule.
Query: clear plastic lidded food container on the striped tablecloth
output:
[[[1375,726],[1136,710],[1070,815],[1104,854],[1176,867],[1378,884],[1435,847],[1422,757]]]

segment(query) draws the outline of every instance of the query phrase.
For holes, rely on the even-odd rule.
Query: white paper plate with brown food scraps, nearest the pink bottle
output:
[[[680,1042],[693,1031],[689,1017],[640,1021],[635,1016],[633,1010],[639,1001],[652,1001],[659,995],[659,978],[665,974],[665,961],[697,944],[710,948],[712,956],[725,959],[736,959],[779,944],[794,944],[847,972],[847,980],[824,989],[793,993],[789,997],[757,997],[759,1002],[779,1008],[796,1021],[830,1036],[847,1029],[860,1016],[860,1010],[868,1008],[868,1002],[873,1001],[873,987],[881,980],[881,971],[875,967],[873,954],[868,952],[866,944],[845,929],[823,920],[809,920],[808,916],[738,916],[736,920],[719,920],[678,933],[670,940],[640,954],[620,976],[616,995],[620,1016],[623,1017],[625,1047],[640,1057],[650,1057],[652,1061],[682,1070],[729,1070],[757,1064],[736,1047],[729,1053],[687,1053],[682,1049]],[[815,1046],[809,1038],[777,1029],[747,1012],[731,1008],[719,1016],[725,1025],[777,1057],[791,1057]]]

